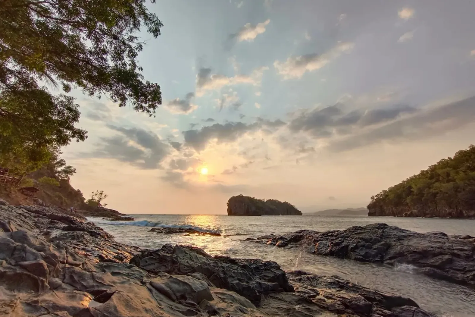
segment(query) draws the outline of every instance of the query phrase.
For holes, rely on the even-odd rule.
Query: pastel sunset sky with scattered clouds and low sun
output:
[[[226,214],[237,194],[362,207],[475,143],[475,1],[148,7],[164,24],[140,34],[156,117],[73,92],[88,138],[63,150],[71,183],[110,208]]]

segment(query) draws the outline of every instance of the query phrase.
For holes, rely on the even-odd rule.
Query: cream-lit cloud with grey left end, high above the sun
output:
[[[207,90],[218,90],[224,86],[248,84],[260,86],[264,71],[269,67],[259,67],[251,75],[235,75],[227,77],[219,74],[211,74],[211,68],[200,68],[196,75],[196,95],[203,96]]]

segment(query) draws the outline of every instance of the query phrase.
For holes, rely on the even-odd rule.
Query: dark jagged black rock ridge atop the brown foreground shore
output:
[[[159,250],[137,254],[130,263],[155,274],[201,273],[213,286],[235,291],[255,304],[260,302],[261,295],[294,290],[276,262],[212,257],[187,246],[166,244]]]

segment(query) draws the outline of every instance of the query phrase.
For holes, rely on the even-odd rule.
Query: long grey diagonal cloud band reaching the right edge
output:
[[[436,108],[421,110],[386,125],[334,140],[332,152],[352,150],[383,141],[408,141],[444,134],[475,121],[475,96]]]

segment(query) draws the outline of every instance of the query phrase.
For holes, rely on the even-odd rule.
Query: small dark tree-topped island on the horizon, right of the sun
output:
[[[249,196],[233,196],[228,200],[228,216],[301,216],[302,211],[288,202],[276,199],[257,199]]]

